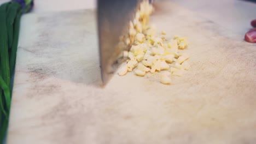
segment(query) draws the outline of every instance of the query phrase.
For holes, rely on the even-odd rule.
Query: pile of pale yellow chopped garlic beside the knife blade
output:
[[[118,71],[120,76],[133,71],[138,76],[161,71],[161,83],[170,84],[170,76],[182,76],[184,70],[190,68],[186,61],[189,56],[179,52],[188,47],[187,38],[165,38],[166,33],[156,33],[153,26],[149,26],[149,16],[153,12],[153,5],[143,1],[133,22],[130,22],[129,34],[124,35],[123,42],[129,51],[124,51],[126,64]]]

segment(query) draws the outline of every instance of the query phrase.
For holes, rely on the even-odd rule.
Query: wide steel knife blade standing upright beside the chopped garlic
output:
[[[100,46],[101,77],[106,84],[118,68],[120,36],[128,30],[140,0],[98,0],[97,22]]]

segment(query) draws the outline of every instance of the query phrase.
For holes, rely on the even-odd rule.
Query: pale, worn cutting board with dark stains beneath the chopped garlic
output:
[[[256,45],[159,5],[159,32],[191,43],[170,86],[129,73],[100,87],[95,11],[24,16],[8,143],[255,143]]]

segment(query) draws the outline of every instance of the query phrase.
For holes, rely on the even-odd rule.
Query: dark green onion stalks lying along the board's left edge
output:
[[[8,128],[20,18],[32,8],[33,0],[12,0],[0,6],[0,143]]]

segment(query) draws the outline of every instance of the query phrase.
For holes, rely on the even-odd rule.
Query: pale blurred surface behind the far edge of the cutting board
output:
[[[161,1],[161,0],[158,0]],[[167,0],[173,1],[182,7],[197,12],[200,16],[210,19],[238,34],[244,34],[245,29],[251,28],[249,23],[255,19],[255,0]],[[8,0],[0,0],[0,4]],[[96,8],[96,0],[36,0],[32,13],[46,11],[66,11],[77,9]],[[248,13],[252,11],[252,13]],[[221,21],[220,21],[221,20]],[[242,27],[245,26],[245,27]]]

